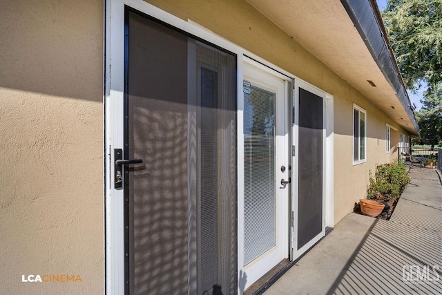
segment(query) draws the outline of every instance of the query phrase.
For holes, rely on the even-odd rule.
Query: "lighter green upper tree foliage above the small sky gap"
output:
[[[388,0],[382,13],[405,86],[432,91],[442,77],[442,0]]]

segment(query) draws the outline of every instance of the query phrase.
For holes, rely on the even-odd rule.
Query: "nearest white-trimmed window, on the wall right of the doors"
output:
[[[353,164],[366,161],[367,113],[363,108],[353,105]]]

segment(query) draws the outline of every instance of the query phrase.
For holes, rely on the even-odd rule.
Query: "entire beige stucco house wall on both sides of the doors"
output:
[[[248,3],[151,3],[334,95],[335,222],[351,211],[369,169],[390,159],[385,123],[397,124]],[[1,293],[104,291],[103,5],[20,0],[0,10]],[[368,124],[367,163],[356,166],[353,103]],[[22,283],[23,274],[82,282]]]

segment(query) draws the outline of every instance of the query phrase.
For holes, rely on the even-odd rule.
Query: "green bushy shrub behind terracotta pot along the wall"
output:
[[[391,164],[376,165],[374,176],[370,171],[367,198],[388,202],[397,200],[405,186],[410,182],[407,169],[403,161],[395,160]]]

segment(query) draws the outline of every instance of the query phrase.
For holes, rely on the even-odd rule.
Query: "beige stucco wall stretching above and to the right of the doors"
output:
[[[385,124],[398,125],[289,35],[245,1],[149,0],[334,95],[334,220],[364,198],[369,170],[395,156],[385,152]],[[331,24],[332,26],[332,24]],[[355,28],[356,30],[356,28]],[[353,104],[367,111],[367,162],[353,166]]]

